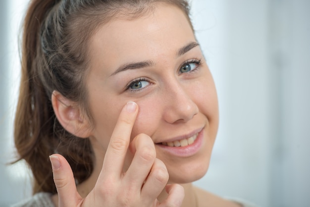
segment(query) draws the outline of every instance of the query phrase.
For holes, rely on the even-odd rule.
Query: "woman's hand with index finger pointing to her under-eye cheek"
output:
[[[130,134],[138,114],[138,105],[128,102],[123,107],[112,133],[103,168],[94,189],[82,198],[76,189],[70,165],[61,155],[51,155],[53,178],[59,207],[180,207],[184,189],[167,185],[166,166],[156,158],[152,139],[140,134],[132,141],[134,158],[126,172],[124,160]],[[157,196],[165,188],[168,197],[159,203]]]

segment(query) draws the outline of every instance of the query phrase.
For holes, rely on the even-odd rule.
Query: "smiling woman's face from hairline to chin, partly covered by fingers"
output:
[[[184,13],[157,4],[140,18],[112,20],[100,26],[89,50],[86,87],[95,152],[104,155],[121,108],[134,101],[139,113],[131,139],[140,133],[152,138],[170,182],[201,178],[217,132],[218,106],[206,60]]]

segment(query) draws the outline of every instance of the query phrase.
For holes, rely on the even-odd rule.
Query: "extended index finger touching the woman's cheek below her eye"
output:
[[[135,102],[128,102],[121,110],[104,156],[104,174],[121,175],[137,114],[138,104]]]

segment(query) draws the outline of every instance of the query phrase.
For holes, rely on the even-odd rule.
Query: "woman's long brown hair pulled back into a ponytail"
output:
[[[33,193],[56,193],[49,155],[59,153],[71,165],[77,183],[93,171],[89,139],[75,137],[57,121],[51,103],[54,90],[82,106],[89,119],[88,41],[96,28],[118,15],[138,18],[154,2],[182,9],[186,0],[32,0],[23,27],[21,84],[14,123],[18,160],[25,159],[34,176]],[[191,23],[190,23],[191,24]]]

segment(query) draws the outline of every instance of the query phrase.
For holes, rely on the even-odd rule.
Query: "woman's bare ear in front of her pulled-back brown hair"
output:
[[[87,138],[91,136],[92,126],[82,114],[79,105],[62,96],[58,91],[52,93],[52,107],[62,127],[71,134]]]

